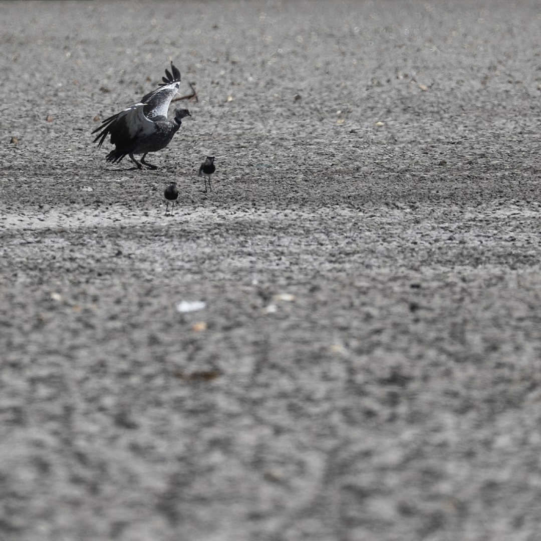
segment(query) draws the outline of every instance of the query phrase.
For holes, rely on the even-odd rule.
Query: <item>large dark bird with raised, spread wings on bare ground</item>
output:
[[[166,77],[162,77],[163,83],[160,88],[153,90],[141,101],[131,105],[116,115],[105,118],[101,126],[95,129],[98,135],[94,142],[98,147],[102,146],[105,138],[111,136],[111,144],[115,149],[107,155],[107,161],[117,163],[122,161],[124,156],[129,156],[135,163],[137,169],[143,165],[149,169],[157,169],[156,166],[145,161],[149,152],[156,152],[167,147],[173,136],[182,124],[182,118],[190,115],[188,109],[175,109],[175,116],[167,120],[169,104],[179,91],[180,71],[171,62],[171,71],[166,69]],[[142,154],[141,163],[134,154]]]

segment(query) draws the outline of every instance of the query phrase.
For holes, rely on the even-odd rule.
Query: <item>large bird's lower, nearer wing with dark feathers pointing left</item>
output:
[[[111,144],[123,148],[133,142],[136,137],[155,133],[156,124],[145,116],[146,107],[145,103],[136,103],[105,119],[102,125],[92,132],[101,130],[94,142],[99,140],[98,147],[101,147],[105,137],[111,135]]]

